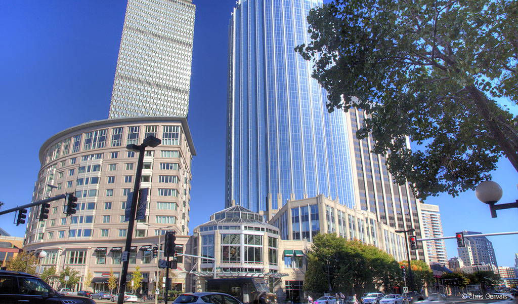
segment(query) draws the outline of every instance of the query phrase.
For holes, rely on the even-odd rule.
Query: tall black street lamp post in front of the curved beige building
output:
[[[130,264],[130,251],[131,251],[131,242],[133,240],[133,228],[135,226],[135,213],[137,211],[137,202],[138,202],[138,192],[140,190],[140,178],[142,176],[142,165],[144,163],[144,154],[146,151],[146,147],[156,147],[160,145],[162,141],[157,139],[155,136],[148,136],[145,140],[142,141],[141,145],[129,144],[126,146],[126,149],[132,151],[138,151],[138,163],[137,163],[137,172],[135,173],[135,185],[133,187],[133,197],[131,201],[131,211],[130,211],[130,220],[128,221],[128,230],[126,231],[126,248],[123,252],[124,261],[122,262],[122,272],[121,272],[121,281],[119,288],[119,298],[117,299],[117,304],[123,304],[124,302],[124,293],[126,292],[126,277],[128,274],[128,266]]]

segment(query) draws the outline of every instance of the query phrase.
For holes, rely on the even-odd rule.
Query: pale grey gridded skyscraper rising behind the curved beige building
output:
[[[187,116],[195,6],[128,0],[109,118]]]

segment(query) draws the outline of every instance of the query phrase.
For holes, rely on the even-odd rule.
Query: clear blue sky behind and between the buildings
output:
[[[196,21],[189,126],[193,160],[190,229],[224,208],[227,25],[234,0],[194,0]],[[38,152],[51,135],[80,123],[108,118],[126,9],[125,1],[0,2],[0,200],[3,210],[31,202],[40,168]],[[518,113],[518,111],[515,111]],[[501,202],[518,198],[518,173],[507,159],[494,180]],[[426,203],[441,209],[444,234],[518,230],[518,210],[489,209],[469,191]],[[22,237],[13,214],[0,227]],[[518,236],[491,237],[498,264],[512,266]],[[447,240],[448,257],[457,255]]]

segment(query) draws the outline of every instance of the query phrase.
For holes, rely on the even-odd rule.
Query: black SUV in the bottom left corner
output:
[[[43,280],[31,274],[0,270],[0,303],[95,304],[95,301],[60,295]]]

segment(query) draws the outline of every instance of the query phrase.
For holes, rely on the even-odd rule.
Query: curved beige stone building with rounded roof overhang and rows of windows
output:
[[[124,214],[130,208],[127,196],[137,169],[138,153],[126,145],[141,144],[149,135],[162,139],[162,144],[145,152],[140,188],[148,188],[149,194],[145,216],[135,223],[129,272],[139,266],[145,283],[142,292],[153,290],[150,283],[156,278],[157,260],[152,251],[160,233],[177,231],[180,252],[189,241],[182,236],[189,234],[191,161],[196,153],[183,117],[99,120],[50,137],[40,149],[33,201],[73,193],[78,208],[66,216],[66,203],[54,201],[48,219],[39,221],[39,206],[33,207],[27,217],[24,250],[46,251],[41,261],[45,267],[78,270],[79,289],[107,290],[110,268],[116,275],[122,269],[128,226]],[[88,272],[95,285],[83,286]]]

